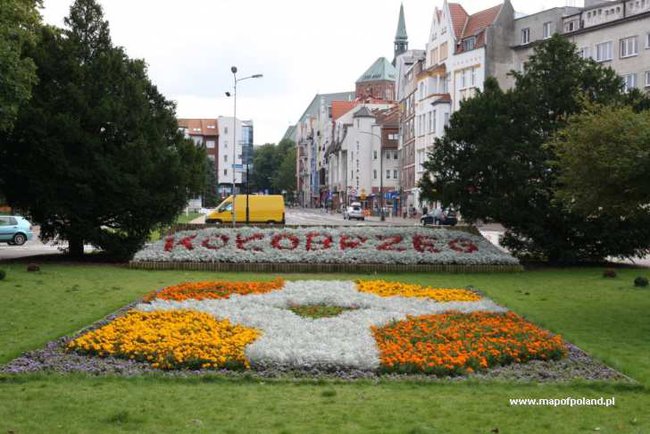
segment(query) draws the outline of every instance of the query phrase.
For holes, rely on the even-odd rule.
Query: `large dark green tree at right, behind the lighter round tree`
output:
[[[522,257],[573,262],[642,252],[650,240],[629,222],[583,216],[554,200],[558,173],[545,146],[585,102],[623,103],[621,79],[559,35],[513,74],[513,90],[488,79],[454,113],[425,163],[423,197],[459,206],[469,221],[499,221],[504,244]]]

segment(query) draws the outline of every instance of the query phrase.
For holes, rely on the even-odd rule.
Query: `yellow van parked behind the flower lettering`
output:
[[[284,224],[284,198],[277,195],[248,196],[249,223]],[[235,202],[235,219],[237,223],[246,223],[246,195],[238,194]],[[232,196],[228,196],[217,209],[208,214],[206,223],[232,223]]]

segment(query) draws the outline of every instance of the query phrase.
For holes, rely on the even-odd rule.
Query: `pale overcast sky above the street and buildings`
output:
[[[570,0],[569,0],[570,2]],[[73,0],[45,0],[47,23],[63,26]],[[232,116],[230,67],[238,77],[237,117],[252,119],[255,144],[276,143],[317,93],[353,91],[378,58],[393,58],[400,0],[103,0],[116,45],[149,65],[178,117]],[[409,48],[424,49],[442,0],[404,0]],[[469,13],[499,0],[460,1]],[[582,6],[582,0],[574,0]],[[513,0],[535,13],[567,0]]]

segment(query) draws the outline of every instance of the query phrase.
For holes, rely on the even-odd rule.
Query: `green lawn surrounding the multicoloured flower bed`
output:
[[[1,265],[0,363],[72,333],[164,285],[272,275],[147,272],[112,266]],[[561,333],[639,385],[603,383],[259,381],[207,378],[0,377],[0,433],[15,432],[650,432],[650,270],[375,276],[472,285]],[[303,278],[359,278],[289,275]],[[511,407],[509,398],[616,397],[616,406]],[[496,432],[496,431],[494,431]]]

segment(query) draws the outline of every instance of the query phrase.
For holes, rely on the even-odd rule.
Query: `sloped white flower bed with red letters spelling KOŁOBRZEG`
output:
[[[517,265],[483,237],[418,227],[210,228],[170,235],[138,262]]]

